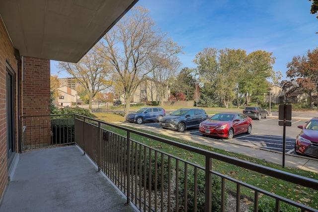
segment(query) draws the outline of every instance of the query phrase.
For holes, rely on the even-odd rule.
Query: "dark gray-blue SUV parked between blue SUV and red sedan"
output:
[[[159,125],[163,129],[183,132],[187,128],[199,127],[199,124],[207,118],[208,115],[203,109],[179,109],[159,118]]]

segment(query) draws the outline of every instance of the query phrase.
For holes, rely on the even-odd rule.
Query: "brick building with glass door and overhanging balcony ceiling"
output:
[[[137,1],[0,1],[0,197],[19,157],[19,116],[50,114],[50,60],[77,63]]]

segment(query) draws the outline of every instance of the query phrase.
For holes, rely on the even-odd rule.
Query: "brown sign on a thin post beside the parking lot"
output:
[[[278,108],[279,126],[283,126],[283,168],[285,167],[285,151],[286,151],[286,126],[292,126],[292,105],[279,105]]]

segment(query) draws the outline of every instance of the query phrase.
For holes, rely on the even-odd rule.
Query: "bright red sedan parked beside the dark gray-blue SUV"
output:
[[[199,132],[207,136],[232,139],[252,131],[252,119],[242,113],[217,113],[200,123]]]

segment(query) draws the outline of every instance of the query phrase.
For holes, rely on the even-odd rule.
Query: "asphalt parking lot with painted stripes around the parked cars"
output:
[[[294,143],[296,136],[299,134],[301,129],[297,128],[299,125],[305,125],[308,120],[292,120],[292,126],[286,127],[286,145],[285,152],[296,154],[294,151]],[[143,126],[160,128],[158,122],[143,123]],[[184,134],[189,136],[203,137],[198,128],[187,129]],[[268,117],[267,119],[262,118],[261,120],[253,120],[252,133],[250,135],[240,134],[234,136],[231,140],[225,140],[216,137],[205,137],[208,140],[227,141],[232,143],[241,143],[243,145],[257,146],[262,149],[283,151],[283,126],[278,125],[277,118]]]

